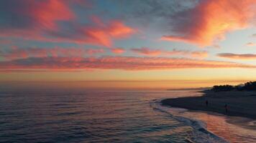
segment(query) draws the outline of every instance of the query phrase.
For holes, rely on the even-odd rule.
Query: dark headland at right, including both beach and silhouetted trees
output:
[[[214,86],[202,92],[204,95],[201,97],[163,99],[161,103],[170,107],[256,119],[256,82],[239,86]]]

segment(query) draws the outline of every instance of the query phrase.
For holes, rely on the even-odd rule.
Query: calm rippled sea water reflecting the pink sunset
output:
[[[241,137],[234,140],[232,136],[225,137],[226,130],[232,134],[230,129],[214,128],[216,121],[223,123],[219,127],[229,127],[224,117],[184,112],[159,104],[164,98],[200,94],[191,91],[1,92],[0,142],[244,142],[246,136],[256,141],[255,134],[248,135],[246,129],[234,125],[230,125],[231,129],[236,134],[242,131]],[[207,117],[216,119],[207,120]]]

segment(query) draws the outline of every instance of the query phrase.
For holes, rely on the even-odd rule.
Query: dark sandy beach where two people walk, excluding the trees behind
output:
[[[227,122],[229,123],[237,124],[247,129],[256,129],[256,124],[248,124],[256,119],[256,92],[199,92],[204,93],[204,95],[200,97],[163,99],[161,104],[166,107],[188,109],[191,112],[221,114],[228,117]],[[208,106],[206,106],[206,100],[209,102]],[[227,113],[224,107],[225,104],[228,105]]]

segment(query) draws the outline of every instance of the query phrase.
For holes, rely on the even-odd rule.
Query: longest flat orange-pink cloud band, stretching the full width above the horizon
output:
[[[100,58],[82,57],[45,57],[0,61],[0,69],[48,69],[48,70],[81,70],[81,69],[123,69],[123,70],[160,70],[187,68],[256,68],[256,65],[239,64],[227,61],[209,61],[196,59],[105,56]]]

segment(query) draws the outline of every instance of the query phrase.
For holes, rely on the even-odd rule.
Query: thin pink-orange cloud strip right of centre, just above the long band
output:
[[[142,54],[146,56],[158,56],[158,55],[171,55],[171,56],[190,56],[195,58],[205,58],[208,56],[207,51],[186,51],[186,50],[176,50],[166,51],[161,49],[150,49],[147,47],[134,48],[131,49],[134,53]]]

